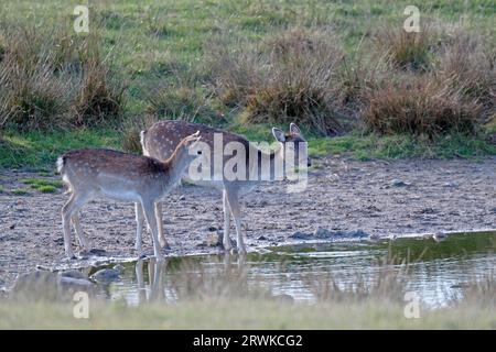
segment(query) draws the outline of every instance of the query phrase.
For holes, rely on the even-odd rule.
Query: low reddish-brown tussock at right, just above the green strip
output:
[[[481,120],[481,106],[427,76],[370,91],[363,120],[369,130],[382,134],[470,133]]]

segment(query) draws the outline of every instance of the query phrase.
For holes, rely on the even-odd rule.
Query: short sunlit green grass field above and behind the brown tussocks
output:
[[[0,22],[8,25],[33,21],[39,26],[67,23],[72,29],[76,4],[79,4],[76,0],[6,0]],[[288,26],[332,23],[353,52],[370,29],[401,23],[409,4],[409,0],[98,1],[90,8],[94,20],[90,30],[99,32],[108,51],[117,52],[115,65],[130,85],[130,113],[141,113],[145,106],[143,98],[150,89],[174,79],[171,68],[179,69],[182,76],[201,78],[200,69],[190,68],[201,62],[205,43],[226,29],[231,36],[258,41]],[[496,34],[492,1],[433,0],[417,6],[422,19],[456,22],[463,15],[470,26]],[[98,25],[98,22],[104,24]]]

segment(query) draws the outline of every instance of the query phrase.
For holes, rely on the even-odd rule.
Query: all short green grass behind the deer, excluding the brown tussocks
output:
[[[76,0],[6,0],[0,13],[3,26],[33,23],[50,28],[66,25],[72,31]],[[104,48],[112,53],[115,70],[128,82],[126,116],[142,114],[149,107],[148,98],[157,87],[181,81],[203,87],[202,67],[204,46],[208,40],[229,31],[229,36],[260,41],[273,32],[291,26],[328,25],[336,28],[345,50],[354,53],[364,35],[386,24],[405,20],[403,10],[409,0],[360,1],[278,1],[246,0],[130,0],[91,2],[90,31],[104,41]],[[433,0],[417,4],[422,20],[441,19],[456,22],[464,16],[468,28],[478,28],[496,36],[493,1]],[[103,24],[98,24],[103,23]],[[0,43],[1,44],[1,43]],[[191,84],[188,84],[191,85]],[[217,111],[213,100],[213,109]],[[225,108],[226,121],[218,125],[247,135],[254,141],[272,141],[269,125],[241,125],[237,112]],[[200,117],[201,118],[201,117]],[[214,123],[216,123],[214,121]],[[496,123],[493,123],[496,133]],[[118,129],[93,129],[58,132],[2,131],[0,168],[46,168],[53,173],[56,157],[72,148],[106,146],[120,148]],[[474,157],[496,154],[496,147],[481,138],[446,136],[434,144],[411,136],[359,135],[353,133],[332,139],[311,139],[313,156],[327,153],[349,153],[358,160],[397,157]]]

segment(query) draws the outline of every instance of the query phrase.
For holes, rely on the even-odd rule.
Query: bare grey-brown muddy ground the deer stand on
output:
[[[483,162],[356,162],[333,156],[319,164],[303,193],[289,194],[287,184],[272,183],[244,197],[249,246],[296,241],[302,233],[311,239],[317,228],[326,230],[323,237],[327,240],[343,239],[357,230],[366,235],[390,237],[496,228],[496,157]],[[9,193],[26,187],[19,184],[25,177],[41,178],[36,174],[0,172],[0,287],[9,287],[17,274],[36,265],[67,263],[61,224],[67,195],[62,190],[31,191],[26,196]],[[164,220],[172,246],[166,254],[222,251],[204,245],[208,237],[222,232],[217,190],[177,188],[164,202]],[[95,248],[105,250],[100,254],[104,258],[134,255],[132,204],[88,204],[82,223]],[[143,240],[151,251],[148,233]]]

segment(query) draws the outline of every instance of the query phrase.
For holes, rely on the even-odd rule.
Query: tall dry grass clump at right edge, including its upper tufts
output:
[[[375,37],[373,56],[389,70],[363,96],[368,130],[470,134],[495,113],[495,55],[482,33],[429,25],[420,33],[388,28]]]

